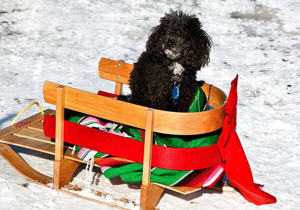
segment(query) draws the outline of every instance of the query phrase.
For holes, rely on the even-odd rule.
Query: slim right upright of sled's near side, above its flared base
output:
[[[146,129],[145,129],[144,156],[143,156],[143,168],[142,168],[142,185],[144,186],[147,186],[150,183],[153,125],[154,125],[154,110],[149,108],[146,111]]]

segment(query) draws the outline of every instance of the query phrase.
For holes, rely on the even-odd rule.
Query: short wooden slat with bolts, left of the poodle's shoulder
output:
[[[122,61],[111,60],[102,57],[99,61],[98,72],[100,78],[128,84],[130,72],[133,69],[132,64]]]

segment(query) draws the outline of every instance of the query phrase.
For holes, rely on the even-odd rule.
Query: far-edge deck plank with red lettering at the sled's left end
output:
[[[55,114],[55,110],[52,110],[52,109],[46,109],[44,110],[44,113],[45,114],[49,114],[49,115],[54,115]],[[37,113],[37,114],[34,114],[30,117],[27,117],[21,121],[18,121],[12,125],[9,125],[8,127],[5,127],[3,129],[0,130],[0,139],[7,136],[7,135],[10,135],[18,130],[21,130],[23,129],[24,127],[27,127],[31,124],[34,124],[35,122],[38,122],[40,120],[42,120],[44,117],[43,114],[41,113]]]

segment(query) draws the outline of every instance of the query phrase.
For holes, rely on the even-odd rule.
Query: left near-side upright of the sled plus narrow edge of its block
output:
[[[56,87],[56,121],[55,121],[55,158],[53,167],[53,187],[60,188],[60,160],[63,158],[63,120],[64,120],[64,86]]]

